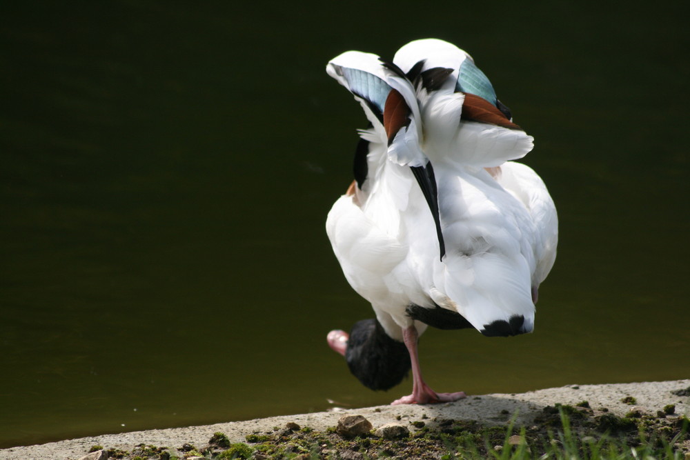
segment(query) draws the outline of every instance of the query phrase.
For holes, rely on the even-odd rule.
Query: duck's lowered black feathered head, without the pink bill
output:
[[[376,319],[357,321],[350,331],[345,360],[350,372],[371,390],[388,390],[411,368],[404,343],[391,339]]]

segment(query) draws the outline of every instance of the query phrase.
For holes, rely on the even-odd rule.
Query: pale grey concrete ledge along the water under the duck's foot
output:
[[[686,395],[674,393],[689,387],[690,379],[685,379],[606,385],[569,385],[518,394],[471,395],[455,403],[428,406],[377,406],[233,421],[188,428],[104,434],[103,436],[70,439],[37,446],[2,449],[0,450],[0,460],[81,459],[94,445],[127,451],[141,443],[170,448],[178,448],[184,443],[204,446],[215,432],[225,433],[230,441],[244,442],[247,434],[272,432],[274,426],[283,427],[290,421],[302,427],[325,430],[328,427],[336,426],[338,419],[344,414],[364,415],[373,423],[374,428],[378,428],[385,423],[397,420],[397,417],[408,421],[422,419],[422,417],[428,417],[428,419],[438,417],[441,419],[477,420],[483,423],[506,423],[515,411],[519,411],[517,423],[528,425],[546,406],[553,406],[555,403],[574,405],[586,400],[589,401],[594,410],[607,408],[617,415],[624,415],[632,407],[638,408],[642,412],[655,414],[667,404],[675,404],[676,414],[685,414],[690,417],[690,397],[687,396],[687,393]],[[622,402],[625,397],[635,398],[633,406]]]

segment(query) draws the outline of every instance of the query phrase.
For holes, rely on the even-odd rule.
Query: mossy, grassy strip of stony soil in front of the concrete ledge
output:
[[[132,452],[109,450],[110,458],[123,459],[442,459],[442,460],[688,460],[690,421],[671,416],[618,417],[595,414],[589,404],[547,406],[534,424],[487,426],[477,421],[433,419],[406,421],[411,433],[402,439],[380,439],[365,434],[344,439],[333,429],[275,428],[272,434],[250,434],[244,443],[230,443],[215,433],[208,446],[156,448],[140,444]],[[671,412],[672,413],[672,412]],[[101,447],[101,446],[94,446]]]

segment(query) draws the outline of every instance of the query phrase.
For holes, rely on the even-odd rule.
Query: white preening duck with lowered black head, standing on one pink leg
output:
[[[393,61],[348,51],[326,67],[362,105],[354,181],[326,221],[346,279],[375,319],[328,333],[351,372],[396,403],[455,401],[431,390],[417,339],[427,326],[513,336],[534,328],[539,285],[553,266],[558,218],[524,157],[533,139],[489,79],[451,43],[417,40]]]

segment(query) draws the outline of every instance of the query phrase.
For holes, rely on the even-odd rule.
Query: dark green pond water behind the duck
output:
[[[326,346],[372,313],[324,231],[364,126],[324,67],[422,37],[533,134],[561,229],[536,332],[429,330],[431,386],[690,375],[682,2],[196,3],[0,6],[0,447],[408,393]]]

